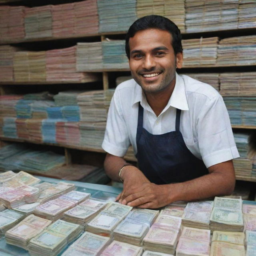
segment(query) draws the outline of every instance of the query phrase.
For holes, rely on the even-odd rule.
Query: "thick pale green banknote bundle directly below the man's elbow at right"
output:
[[[214,198],[210,230],[240,232],[244,228],[242,199]]]

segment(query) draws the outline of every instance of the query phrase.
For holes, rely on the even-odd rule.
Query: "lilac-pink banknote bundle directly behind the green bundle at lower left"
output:
[[[75,205],[76,204],[74,202],[56,198],[37,206],[34,210],[34,214],[42,218],[55,221],[62,217],[64,212],[70,208],[73,208]]]

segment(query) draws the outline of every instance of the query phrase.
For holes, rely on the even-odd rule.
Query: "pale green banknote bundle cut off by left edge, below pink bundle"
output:
[[[0,212],[0,238],[5,234],[7,230],[14,227],[20,220],[24,218],[24,215],[14,210],[6,209]]]

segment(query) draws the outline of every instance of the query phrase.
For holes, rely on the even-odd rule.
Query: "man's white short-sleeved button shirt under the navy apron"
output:
[[[184,142],[207,168],[239,157],[228,111],[220,94],[208,84],[177,73],[172,96],[159,116],[133,79],[116,87],[102,143],[106,152],[122,157],[132,144],[137,153],[138,104],[144,108],[143,127],[151,134],[175,131],[176,108],[181,109],[180,132]]]

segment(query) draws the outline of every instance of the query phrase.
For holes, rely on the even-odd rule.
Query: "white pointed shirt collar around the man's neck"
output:
[[[142,91],[142,88],[136,83],[135,97],[134,97],[133,104],[135,104],[137,102],[141,102],[141,105],[143,108],[145,108],[147,110],[151,109],[147,103],[146,96],[145,96],[144,92]],[[176,72],[176,83],[174,86],[174,90],[172,92],[172,96],[170,97],[170,100],[168,101],[163,112],[166,109],[168,109],[170,106],[172,106],[174,108],[178,108],[180,110],[188,110],[188,101],[186,98],[184,80],[181,76],[179,76],[177,74],[177,72]]]

